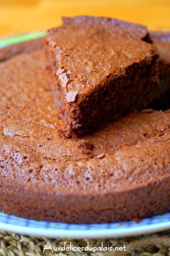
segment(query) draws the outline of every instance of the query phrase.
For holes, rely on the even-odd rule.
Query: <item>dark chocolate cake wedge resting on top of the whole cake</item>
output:
[[[65,136],[87,134],[169,86],[147,28],[111,18],[63,18],[47,31],[47,69]]]

